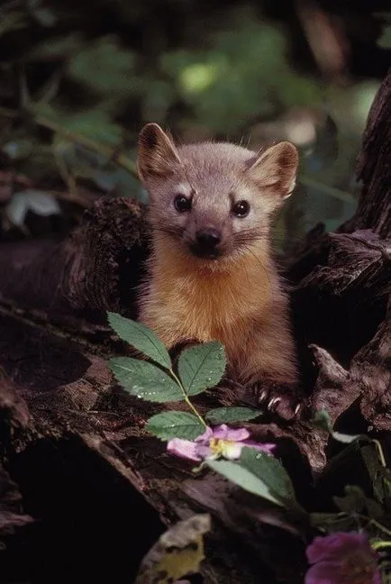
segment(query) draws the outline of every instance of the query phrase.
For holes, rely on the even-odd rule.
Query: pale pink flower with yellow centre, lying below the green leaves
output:
[[[250,433],[246,428],[229,428],[225,424],[214,429],[207,427],[205,433],[195,438],[194,442],[173,438],[167,445],[171,454],[176,454],[189,461],[223,458],[236,460],[241,456],[243,446],[255,448],[260,452],[271,454],[276,444],[259,444],[248,440]]]

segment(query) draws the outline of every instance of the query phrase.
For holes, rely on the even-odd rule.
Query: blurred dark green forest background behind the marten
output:
[[[0,7],[0,237],[68,231],[98,196],[145,193],[137,134],[258,149],[287,139],[300,180],[286,250],[354,211],[354,164],[390,64],[387,2],[44,0]]]

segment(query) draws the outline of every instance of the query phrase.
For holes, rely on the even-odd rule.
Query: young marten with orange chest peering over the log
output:
[[[288,141],[259,154],[231,143],[176,147],[141,130],[138,172],[149,193],[152,251],[140,320],[168,349],[223,343],[241,383],[296,384],[286,294],[270,250],[272,214],[295,187]]]

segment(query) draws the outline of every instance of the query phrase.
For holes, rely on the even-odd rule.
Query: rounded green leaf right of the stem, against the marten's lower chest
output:
[[[217,341],[183,351],[177,370],[187,395],[195,396],[205,388],[214,388],[223,377],[225,364],[223,345]]]

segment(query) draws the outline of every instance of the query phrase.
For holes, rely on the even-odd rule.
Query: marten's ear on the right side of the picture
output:
[[[260,187],[273,187],[285,199],[295,188],[298,161],[296,146],[283,141],[259,154],[250,166],[250,176]]]

